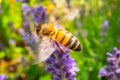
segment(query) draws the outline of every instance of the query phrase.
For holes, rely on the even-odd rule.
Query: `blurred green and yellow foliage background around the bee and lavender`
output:
[[[23,1],[23,0],[21,0]],[[71,51],[80,71],[77,80],[104,80],[99,69],[107,65],[106,52],[120,49],[119,0],[0,0],[0,74],[8,80],[50,80],[44,65],[31,65],[30,51],[19,33],[24,29],[22,4],[43,6],[49,16],[64,18],[71,9],[79,9],[77,18],[61,23],[81,42],[82,51]],[[70,2],[69,2],[70,1]],[[64,5],[64,6],[63,6]],[[53,14],[56,10],[57,13]],[[53,11],[53,12],[52,12]],[[33,28],[33,23],[31,22]]]

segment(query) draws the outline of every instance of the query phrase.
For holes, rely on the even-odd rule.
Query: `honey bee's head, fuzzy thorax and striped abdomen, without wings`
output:
[[[75,36],[63,28],[56,28],[52,23],[40,24],[36,28],[36,33],[40,37],[48,36],[49,38],[53,39],[56,44],[60,43],[61,45],[71,50],[81,50],[80,42],[76,39]]]

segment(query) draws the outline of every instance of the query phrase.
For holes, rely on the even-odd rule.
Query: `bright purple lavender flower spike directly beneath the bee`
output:
[[[69,50],[63,46],[65,51],[56,51],[46,60],[46,70],[52,74],[53,80],[76,80],[76,72],[79,69],[76,67],[76,62],[71,58]]]

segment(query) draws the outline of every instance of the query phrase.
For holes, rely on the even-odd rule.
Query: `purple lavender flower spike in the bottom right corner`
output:
[[[109,80],[120,80],[120,50],[116,47],[113,49],[113,54],[107,53],[108,66],[100,69],[99,75],[107,77]]]

